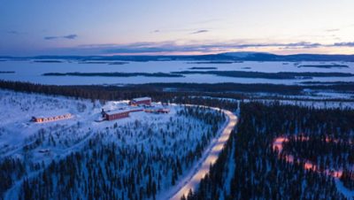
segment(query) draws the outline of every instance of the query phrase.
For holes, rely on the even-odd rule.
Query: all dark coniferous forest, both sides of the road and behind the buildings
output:
[[[6,83],[4,88],[25,92],[35,88],[36,93],[103,102],[149,95],[169,103],[208,105],[237,113],[239,122],[217,162],[211,165],[210,173],[196,191],[190,191],[182,199],[345,199],[338,184],[354,188],[354,111],[332,107],[330,102],[325,107],[315,107],[312,103],[307,106],[281,104],[277,100],[265,102],[242,95],[235,95],[230,100],[218,98],[215,93],[207,94],[212,97],[204,97],[204,93],[194,92],[131,91],[128,88],[96,90],[95,86],[71,89],[27,83]],[[188,108],[178,115],[188,115],[212,125],[209,127],[211,131],[203,136],[203,142],[196,143],[194,151],[186,152],[182,157],[173,158],[154,148],[144,151],[146,147],[123,148],[114,143],[100,143],[106,136],[101,134],[91,138],[85,150],[74,152],[48,167],[26,166],[16,158],[2,160],[0,175],[5,181],[0,183],[0,193],[10,188],[13,180],[26,175],[29,168],[40,173],[23,182],[19,193],[21,199],[80,199],[80,196],[85,199],[153,199],[164,187],[162,180],[165,177],[168,177],[168,184],[176,184],[183,169],[200,157],[205,143],[223,120],[221,115],[211,116],[208,112]],[[282,143],[281,151],[273,148],[274,140],[279,137],[288,139]],[[294,162],[289,162],[289,155]],[[122,157],[133,163],[135,169],[128,171],[127,165],[119,159]],[[150,167],[150,162],[155,160],[158,163],[161,159],[164,161],[158,167]],[[306,162],[319,168],[306,170]],[[119,175],[113,169],[125,169],[127,173]],[[341,173],[339,177],[333,177],[327,171]],[[138,183],[143,186],[137,187]]]

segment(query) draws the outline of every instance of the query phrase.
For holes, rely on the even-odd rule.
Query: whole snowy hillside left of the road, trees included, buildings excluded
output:
[[[95,184],[100,185],[95,189],[111,189],[105,193],[108,198],[132,194],[152,198],[189,173],[225,121],[221,112],[208,108],[167,105],[171,111],[167,114],[132,112],[127,119],[97,122],[102,108],[115,110],[127,107],[127,102],[100,103],[10,90],[0,90],[0,104],[0,167],[19,162],[4,171],[12,182],[8,188],[0,188],[5,199],[45,197],[38,192],[43,187],[48,187],[47,195],[58,198],[67,194],[88,197],[92,194],[87,187],[96,173],[102,174],[95,178]],[[30,121],[33,116],[65,113],[73,118]],[[81,162],[73,161],[73,155]],[[77,173],[70,173],[73,168],[64,165],[74,167]],[[44,181],[43,186],[40,182],[45,174],[50,181]],[[67,180],[73,177],[78,182]],[[72,190],[66,191],[69,185]],[[56,191],[50,193],[53,188]]]

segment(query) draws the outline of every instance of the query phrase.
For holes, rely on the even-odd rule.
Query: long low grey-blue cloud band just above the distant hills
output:
[[[177,42],[135,42],[127,44],[89,44],[73,48],[59,49],[62,54],[76,55],[173,55],[191,53],[220,53],[235,50],[311,50],[316,48],[331,47],[354,47],[354,42],[337,42],[322,44],[318,42],[188,42],[180,44]]]

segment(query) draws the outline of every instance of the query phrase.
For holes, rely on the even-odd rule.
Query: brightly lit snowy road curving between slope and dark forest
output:
[[[219,152],[224,148],[224,145],[231,135],[231,131],[234,129],[237,123],[237,117],[233,112],[226,110],[221,111],[227,115],[228,122],[227,125],[222,129],[218,141],[212,143],[212,147],[208,148],[209,152],[206,158],[204,158],[203,163],[197,167],[197,170],[190,176],[191,178],[189,181],[184,182],[183,186],[176,193],[174,193],[170,199],[181,200],[181,196],[188,195],[189,189],[195,191],[199,182],[204,178],[205,174],[209,172],[210,165],[215,163],[219,156]]]

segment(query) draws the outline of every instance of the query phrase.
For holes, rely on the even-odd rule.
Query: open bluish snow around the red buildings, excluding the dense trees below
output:
[[[6,158],[18,158],[25,168],[23,176],[12,177],[14,182],[7,189],[5,199],[18,198],[25,178],[35,180],[42,177],[41,174],[48,170],[52,161],[67,162],[65,160],[73,152],[92,156],[95,155],[95,150],[101,150],[99,145],[109,147],[113,144],[118,150],[126,152],[143,150],[141,156],[146,155],[148,158],[142,159],[143,165],[152,167],[153,177],[157,178],[161,174],[164,177],[162,180],[154,180],[158,181],[158,193],[163,193],[189,174],[197,158],[202,156],[198,150],[206,148],[203,142],[212,141],[212,132],[215,129],[212,124],[198,119],[197,113],[194,117],[189,116],[184,106],[175,104],[167,105],[170,110],[167,114],[131,112],[126,119],[100,122],[98,119],[101,118],[102,108],[104,111],[127,108],[127,101],[100,103],[63,96],[0,90],[0,104],[0,163]],[[162,105],[155,103],[153,106]],[[219,112],[208,108],[198,108],[196,111],[219,115]],[[30,121],[34,116],[52,117],[65,113],[71,113],[73,118],[47,123]],[[216,125],[218,129],[222,123]],[[93,146],[93,142],[99,145]],[[138,159],[140,164],[135,158],[125,160],[124,154],[120,155],[119,152],[117,156],[123,159],[121,161],[128,163],[118,172],[113,171],[119,176],[128,176],[129,170],[142,165],[141,159]],[[158,160],[159,156],[165,160]],[[149,158],[157,161],[151,165]],[[177,167],[178,175],[173,175],[175,168],[168,166],[171,162],[176,167],[181,167]],[[81,165],[78,167],[84,168],[89,164]],[[58,174],[51,175],[52,180],[58,180]],[[149,181],[150,178],[140,180],[142,186]],[[58,183],[53,183],[54,186],[56,184],[58,187]],[[83,190],[77,189],[82,195]],[[121,192],[119,191],[119,195],[127,196],[127,193]]]

